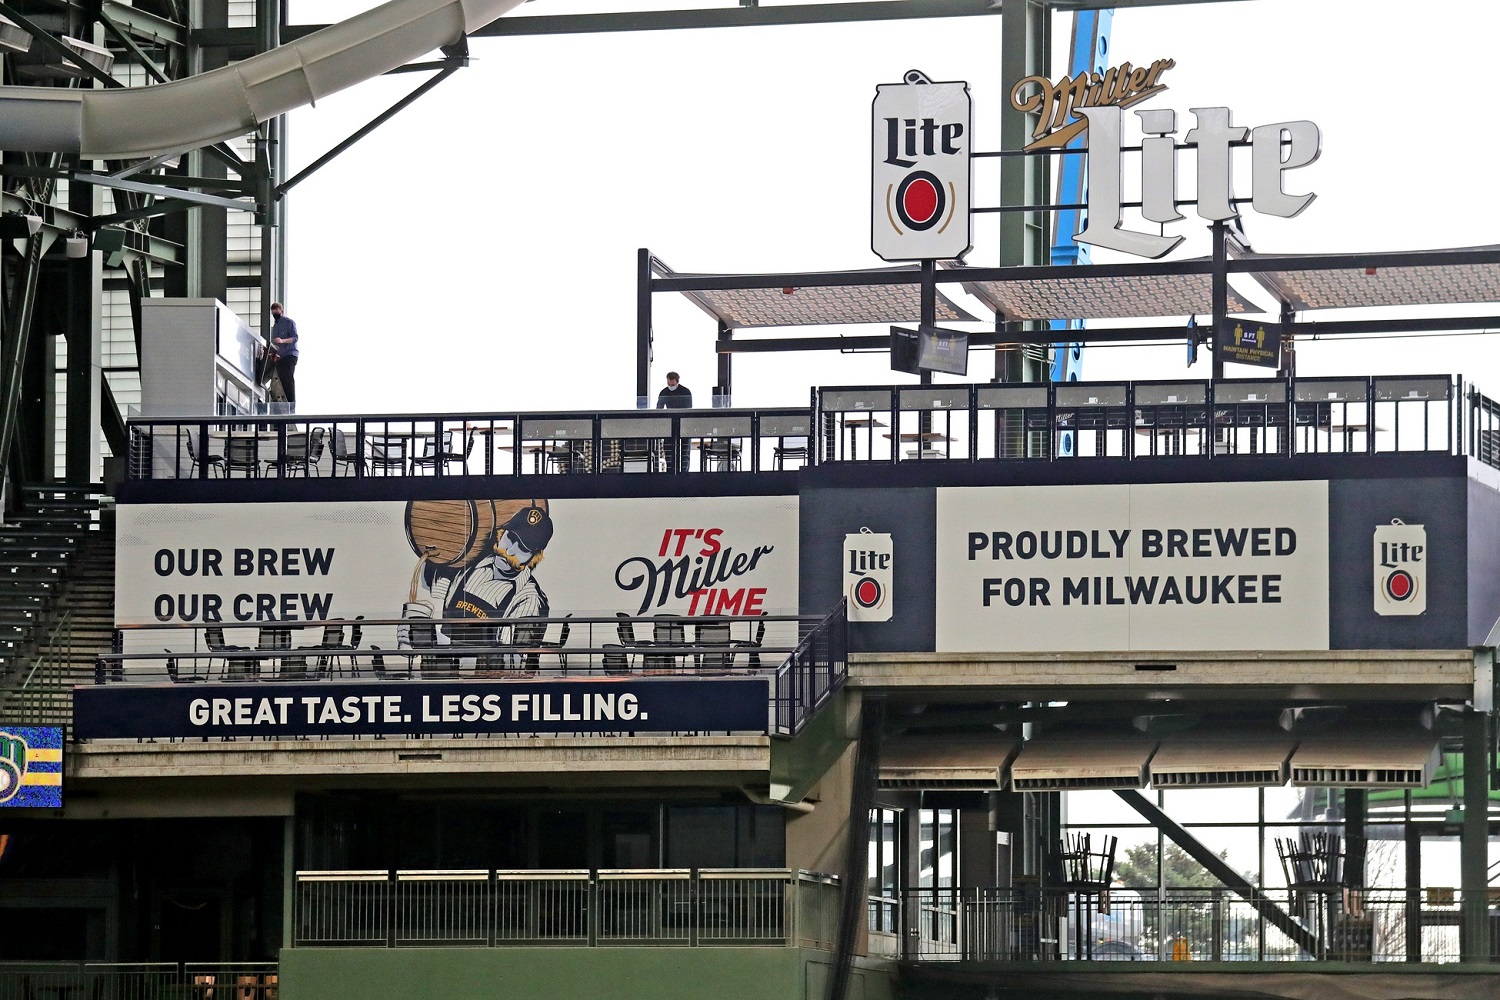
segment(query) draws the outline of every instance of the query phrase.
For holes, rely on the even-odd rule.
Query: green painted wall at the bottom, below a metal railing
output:
[[[832,957],[795,948],[288,948],[282,1000],[822,1000]],[[849,1000],[892,997],[860,963]]]

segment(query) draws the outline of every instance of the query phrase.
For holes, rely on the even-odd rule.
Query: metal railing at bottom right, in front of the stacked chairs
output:
[[[996,888],[909,889],[888,957],[921,961],[1456,963],[1461,894],[1452,889],[1228,889],[1100,894]],[[882,900],[880,904],[892,904]],[[872,915],[876,901],[872,900]],[[1276,907],[1311,948],[1268,921]],[[882,910],[884,912],[884,910]],[[1491,918],[1490,954],[1500,945]]]

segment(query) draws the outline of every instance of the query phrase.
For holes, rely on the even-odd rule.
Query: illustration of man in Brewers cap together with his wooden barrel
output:
[[[398,628],[400,646],[488,645],[518,618],[546,618],[548,595],[532,571],[552,540],[544,499],[411,501],[406,540],[417,555],[402,618],[448,621],[435,633]]]

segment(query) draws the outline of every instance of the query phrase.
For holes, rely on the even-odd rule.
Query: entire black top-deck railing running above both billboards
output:
[[[843,385],[814,390],[812,409],[156,417],[129,429],[134,480],[1384,453],[1500,465],[1500,403],[1448,375]]]

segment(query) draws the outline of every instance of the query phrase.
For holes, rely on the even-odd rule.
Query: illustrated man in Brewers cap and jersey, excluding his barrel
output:
[[[516,511],[496,532],[494,555],[458,573],[426,564],[402,618],[472,618],[494,625],[444,625],[436,642],[488,645],[504,642],[506,619],[546,618],[548,595],[531,576],[552,541],[552,519],[540,507]],[[440,613],[436,613],[440,612]],[[506,622],[510,624],[508,621]],[[411,645],[410,627],[396,630],[398,645]]]

